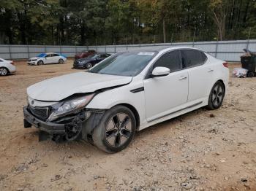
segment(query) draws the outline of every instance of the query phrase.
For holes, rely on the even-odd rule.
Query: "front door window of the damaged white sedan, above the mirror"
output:
[[[181,58],[179,51],[171,51],[162,55],[156,63],[154,63],[154,68],[162,66],[170,69],[170,71],[177,71],[181,69]]]

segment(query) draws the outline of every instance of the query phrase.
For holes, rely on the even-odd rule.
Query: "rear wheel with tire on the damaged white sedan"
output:
[[[218,109],[222,106],[223,99],[225,97],[225,86],[222,82],[218,81],[211,88],[211,93],[208,98],[208,109]]]

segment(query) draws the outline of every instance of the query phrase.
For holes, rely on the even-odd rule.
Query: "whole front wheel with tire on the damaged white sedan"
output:
[[[126,106],[114,106],[103,115],[94,128],[94,145],[105,152],[115,153],[125,149],[135,136],[135,115]]]

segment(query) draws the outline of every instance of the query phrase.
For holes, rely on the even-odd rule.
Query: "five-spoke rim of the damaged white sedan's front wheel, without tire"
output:
[[[120,147],[127,142],[132,135],[132,122],[124,113],[114,115],[108,121],[105,130],[105,138],[112,147]]]

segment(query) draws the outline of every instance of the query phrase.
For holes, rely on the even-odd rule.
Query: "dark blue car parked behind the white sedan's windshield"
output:
[[[73,69],[91,69],[92,66],[108,58],[110,54],[89,55],[87,58],[81,58],[74,61]]]

